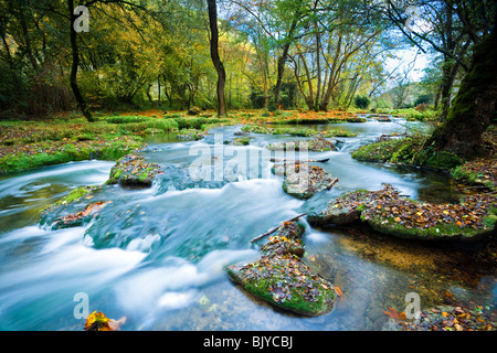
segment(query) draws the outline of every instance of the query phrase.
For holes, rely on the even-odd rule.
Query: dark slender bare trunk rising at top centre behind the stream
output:
[[[224,103],[224,85],[226,82],[226,72],[219,57],[219,32],[218,32],[218,10],[215,0],[208,0],[209,28],[211,30],[211,58],[218,72],[218,116],[226,116],[226,106]]]

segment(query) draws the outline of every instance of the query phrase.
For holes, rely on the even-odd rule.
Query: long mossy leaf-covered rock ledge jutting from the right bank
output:
[[[459,204],[420,203],[399,195],[391,185],[355,191],[309,212],[310,224],[367,222],[378,232],[416,239],[476,239],[495,231],[495,193],[475,194]]]

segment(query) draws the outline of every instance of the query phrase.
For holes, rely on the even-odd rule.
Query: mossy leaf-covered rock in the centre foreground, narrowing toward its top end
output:
[[[228,267],[230,278],[245,290],[278,308],[306,315],[329,312],[335,303],[332,285],[302,261],[304,226],[285,222],[261,247],[258,260]]]

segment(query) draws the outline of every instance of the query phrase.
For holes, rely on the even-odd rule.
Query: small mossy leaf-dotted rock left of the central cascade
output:
[[[157,163],[147,163],[144,157],[128,154],[123,157],[110,169],[107,184],[120,184],[123,186],[151,186],[154,179],[163,173]]]

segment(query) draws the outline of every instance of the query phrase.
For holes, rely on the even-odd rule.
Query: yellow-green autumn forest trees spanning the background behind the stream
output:
[[[493,1],[1,0],[1,117],[216,108],[208,2],[228,109],[425,104],[445,118],[496,15]],[[406,49],[432,58],[417,83]]]

